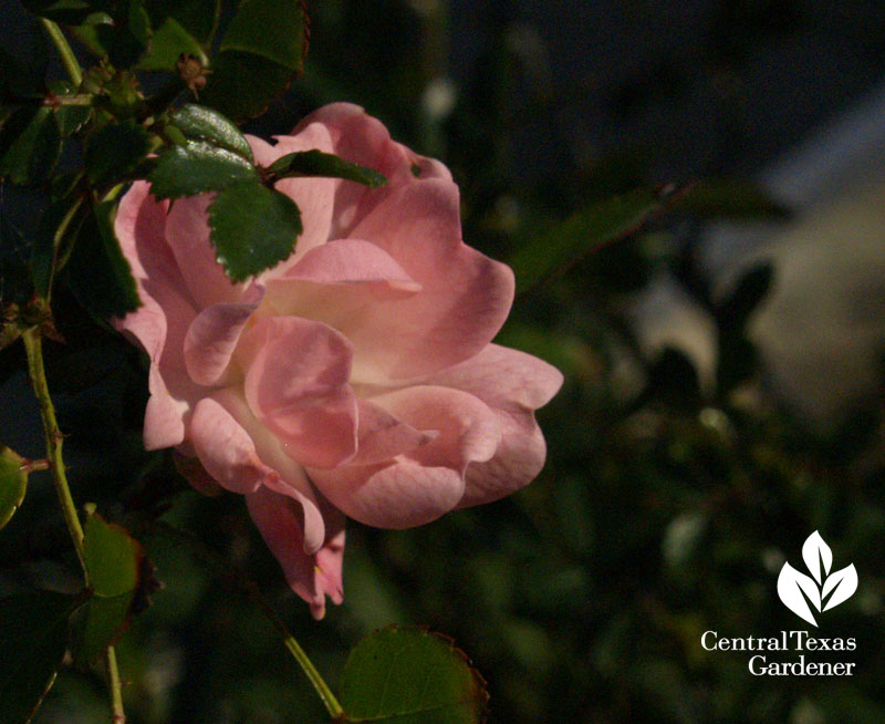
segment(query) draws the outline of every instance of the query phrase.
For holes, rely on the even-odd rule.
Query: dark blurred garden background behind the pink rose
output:
[[[452,637],[492,723],[885,721],[885,4],[325,0],[310,14],[304,75],[249,130],[351,101],[448,164],[465,239],[519,280],[498,341],[565,374],[539,414],[549,462],[518,495],[423,528],[350,524],[345,602],[314,623],[238,496],[202,498],[140,451],[143,362],[71,311],[48,365],[77,499],[162,513],[205,544],[139,535],[165,588],[119,647],[129,721],[324,721],[231,562],[333,684],[375,628]],[[618,204],[654,214],[600,246]],[[4,442],[39,457],[3,354]],[[52,503],[35,479],[0,536],[0,583],[69,575]],[[814,530],[858,573],[813,632],[856,639],[855,675],[753,676],[746,654],[705,651],[707,630],[808,628],[777,577]],[[105,707],[101,680],[70,671],[35,721]]]

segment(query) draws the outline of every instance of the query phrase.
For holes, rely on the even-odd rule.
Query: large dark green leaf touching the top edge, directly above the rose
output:
[[[306,18],[295,0],[246,0],[221,41],[204,102],[235,121],[259,115],[301,73]]]

